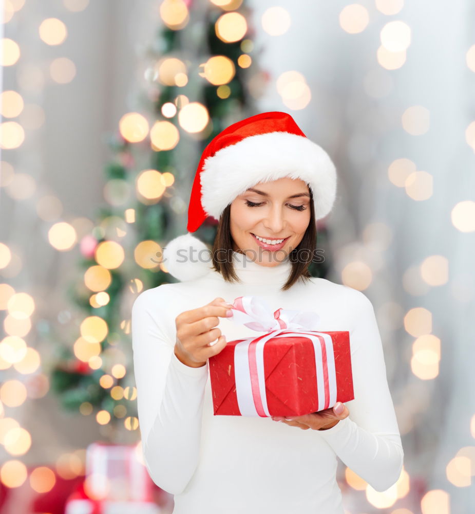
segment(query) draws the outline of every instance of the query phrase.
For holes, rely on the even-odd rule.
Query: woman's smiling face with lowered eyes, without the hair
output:
[[[259,182],[231,203],[233,250],[247,254],[262,266],[280,264],[307,230],[310,201],[309,188],[303,180],[284,177]],[[268,241],[259,241],[256,236]]]

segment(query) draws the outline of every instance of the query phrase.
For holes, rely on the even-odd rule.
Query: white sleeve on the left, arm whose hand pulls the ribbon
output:
[[[198,465],[208,363],[191,368],[176,357],[162,287],[144,291],[132,306],[134,374],[146,467],[159,487],[178,494]]]

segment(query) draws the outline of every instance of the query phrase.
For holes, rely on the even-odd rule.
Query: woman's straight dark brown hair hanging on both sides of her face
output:
[[[286,291],[290,289],[299,279],[302,281],[309,281],[312,277],[308,268],[313,259],[313,252],[316,247],[317,240],[317,227],[315,220],[315,209],[313,205],[312,189],[310,191],[310,222],[302,240],[296,248],[289,254],[289,260],[292,263],[292,270],[287,282],[282,286],[281,290]],[[216,233],[216,238],[213,244],[212,261],[215,271],[218,271],[223,276],[226,282],[239,282],[239,278],[234,269],[231,256],[233,254],[233,238],[231,237],[230,229],[230,213],[231,204],[227,205],[221,216],[219,217],[219,224]],[[227,254],[227,258],[223,258]],[[219,255],[219,260],[218,260]],[[299,256],[296,259],[296,256]],[[303,257],[303,259],[302,259]]]

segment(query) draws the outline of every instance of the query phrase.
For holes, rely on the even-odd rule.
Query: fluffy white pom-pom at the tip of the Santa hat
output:
[[[213,267],[211,250],[189,232],[163,248],[162,262],[168,273],[182,282],[203,277]]]

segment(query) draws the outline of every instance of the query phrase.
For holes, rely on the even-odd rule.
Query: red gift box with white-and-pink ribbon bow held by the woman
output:
[[[316,331],[315,313],[277,309],[271,319],[257,297],[237,298],[234,309],[267,333],[208,359],[215,415],[302,416],[354,399],[348,331]]]

